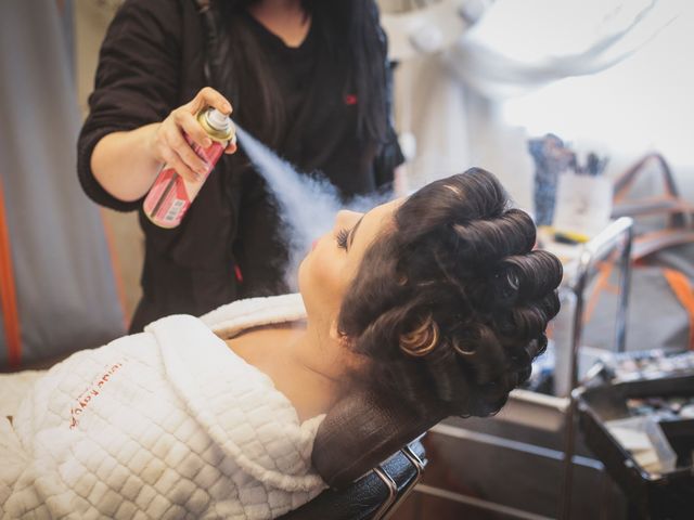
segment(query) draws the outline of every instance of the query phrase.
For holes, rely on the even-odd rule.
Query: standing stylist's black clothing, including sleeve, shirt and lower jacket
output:
[[[286,95],[287,123],[278,153],[299,171],[323,172],[346,196],[390,180],[391,171],[376,176],[374,170],[380,147],[357,136],[358,100],[345,74],[322,52],[321,32],[312,26],[299,48],[288,48],[250,16],[245,22]],[[143,299],[132,332],[167,314],[200,315],[240,297],[285,290],[286,250],[277,239],[277,214],[265,182],[243,153],[222,157],[174,230],[150,222],[141,200],[124,203],[111,196],[90,169],[101,138],[163,120],[206,84],[204,41],[192,1],[128,0],[101,49],[90,115],[78,143],[78,173],[97,203],[140,212],[145,235]],[[383,62],[385,66],[385,54]],[[234,74],[244,77],[243,70]],[[253,106],[254,100],[244,102]],[[401,161],[397,142],[393,139],[382,150],[388,147],[391,154],[396,150],[396,160],[390,161],[396,166]]]

